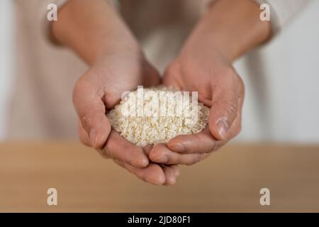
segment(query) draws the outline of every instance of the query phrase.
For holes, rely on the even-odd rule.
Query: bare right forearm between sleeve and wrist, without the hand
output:
[[[271,36],[271,24],[259,19],[260,12],[259,6],[251,0],[216,0],[198,22],[186,45],[206,45],[233,61]]]

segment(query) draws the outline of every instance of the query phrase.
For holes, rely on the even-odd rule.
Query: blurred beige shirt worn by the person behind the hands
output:
[[[276,0],[276,27],[291,16],[301,1],[286,12],[288,1]],[[72,105],[74,82],[87,66],[71,50],[47,38],[47,4],[53,0],[16,0],[16,84],[9,122],[10,138],[76,138],[77,115]],[[56,1],[63,4],[65,1]],[[269,0],[269,3],[275,1]],[[177,55],[206,0],[123,0],[118,10],[159,70]],[[279,7],[279,6],[280,7]],[[141,26],[143,25],[143,26]]]

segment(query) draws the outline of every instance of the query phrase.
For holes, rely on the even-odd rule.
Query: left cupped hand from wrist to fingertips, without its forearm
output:
[[[123,92],[159,84],[158,72],[140,52],[113,52],[99,58],[79,78],[73,101],[79,116],[79,137],[84,145],[95,148],[129,172],[152,184],[174,184],[177,165],[150,163],[152,147],[140,148],[111,129],[106,111],[121,100]]]

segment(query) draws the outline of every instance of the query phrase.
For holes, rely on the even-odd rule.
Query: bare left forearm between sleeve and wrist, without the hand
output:
[[[70,0],[52,23],[52,35],[92,65],[99,57],[118,50],[138,52],[133,35],[103,0]]]

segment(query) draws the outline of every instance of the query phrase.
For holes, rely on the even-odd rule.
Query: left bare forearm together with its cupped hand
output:
[[[153,184],[174,184],[177,165],[150,163],[150,146],[139,148],[111,129],[106,111],[123,92],[159,83],[157,71],[145,60],[125,23],[103,0],[68,1],[52,23],[57,43],[72,48],[90,66],[74,87],[82,143],[112,158],[140,179]]]

